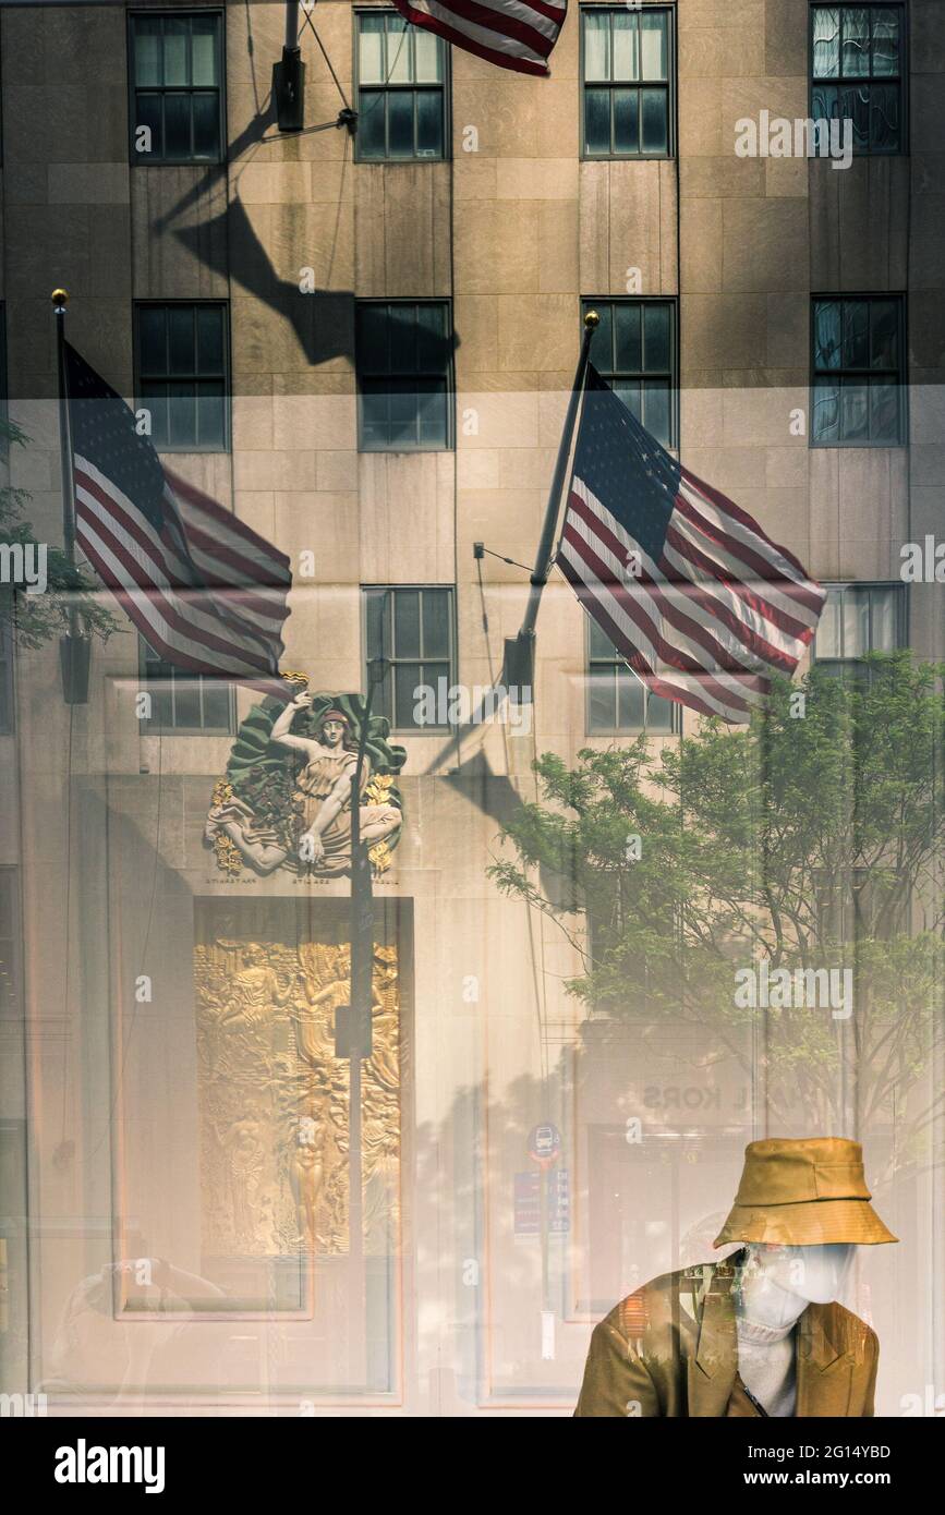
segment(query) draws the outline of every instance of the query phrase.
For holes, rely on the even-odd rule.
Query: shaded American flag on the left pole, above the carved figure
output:
[[[162,468],[121,395],[65,345],[76,544],[174,668],[285,697],[289,559]]]

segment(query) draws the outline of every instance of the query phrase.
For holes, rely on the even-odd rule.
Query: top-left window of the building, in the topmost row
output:
[[[218,164],[223,156],[223,17],[129,17],[135,164]]]

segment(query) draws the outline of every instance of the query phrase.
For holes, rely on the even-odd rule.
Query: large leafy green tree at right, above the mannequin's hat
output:
[[[747,1073],[745,1032],[766,1015],[774,1110],[866,1129],[942,1036],[943,671],[910,651],[848,682],[815,665],[748,727],[586,748],[574,768],[545,753],[541,800],[503,827],[489,874],[569,936],[583,973],[568,989],[589,1014],[704,1026]],[[736,973],[762,957],[792,983],[850,970],[853,1014],[778,991],[766,1011],[739,1003]],[[916,1103],[918,1145],[934,1106]]]

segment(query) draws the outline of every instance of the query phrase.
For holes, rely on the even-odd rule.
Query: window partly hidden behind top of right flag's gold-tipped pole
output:
[[[674,300],[582,300],[597,311],[591,362],[663,447],[677,441],[677,342]]]

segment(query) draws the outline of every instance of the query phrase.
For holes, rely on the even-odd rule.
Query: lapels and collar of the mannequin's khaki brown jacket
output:
[[[689,1359],[689,1415],[724,1417],[738,1373],[731,1285],[741,1253],[703,1271],[695,1288],[698,1341]],[[689,1280],[688,1280],[689,1282]],[[700,1300],[701,1295],[701,1300]],[[797,1415],[844,1415],[853,1362],[836,1339],[834,1310],[809,1304],[797,1323]]]

